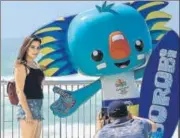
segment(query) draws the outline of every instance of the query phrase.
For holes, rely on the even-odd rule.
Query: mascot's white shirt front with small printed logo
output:
[[[135,84],[134,72],[126,72],[101,78],[103,100],[117,100],[140,97]]]

